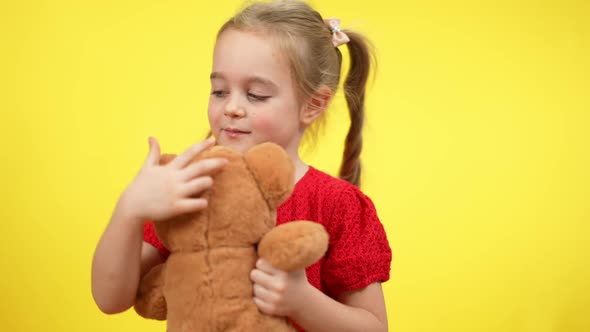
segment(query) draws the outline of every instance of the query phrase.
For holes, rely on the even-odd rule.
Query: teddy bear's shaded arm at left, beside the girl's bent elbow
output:
[[[140,281],[133,308],[142,317],[165,320],[164,270],[166,263],[154,266]]]

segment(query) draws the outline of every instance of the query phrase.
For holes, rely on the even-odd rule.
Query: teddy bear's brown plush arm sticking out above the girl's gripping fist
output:
[[[321,224],[293,221],[273,228],[258,245],[258,255],[284,270],[303,269],[320,259],[328,249],[328,233]]]

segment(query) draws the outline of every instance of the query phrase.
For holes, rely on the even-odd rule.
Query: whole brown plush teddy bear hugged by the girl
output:
[[[287,318],[259,311],[249,275],[259,257],[284,271],[313,264],[328,234],[312,221],[275,225],[276,208],[294,187],[293,163],[281,147],[262,143],[242,154],[214,146],[192,162],[216,157],[229,162],[203,193],[207,208],[154,222],[170,256],[141,279],[134,309],[166,320],[168,332],[296,331]]]

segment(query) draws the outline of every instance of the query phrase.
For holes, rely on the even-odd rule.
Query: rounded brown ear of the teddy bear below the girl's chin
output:
[[[244,160],[271,208],[289,198],[295,182],[295,169],[283,148],[274,143],[262,143],[248,150]]]

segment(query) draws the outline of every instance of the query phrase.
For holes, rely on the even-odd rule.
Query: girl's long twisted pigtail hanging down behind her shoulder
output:
[[[350,115],[350,128],[346,135],[339,176],[341,179],[360,187],[360,155],[363,148],[362,130],[365,120],[365,89],[373,54],[370,51],[368,41],[362,35],[352,31],[344,32],[350,39],[346,44],[350,54],[350,68],[344,81],[344,97]]]

